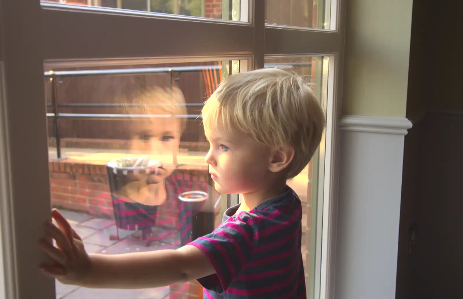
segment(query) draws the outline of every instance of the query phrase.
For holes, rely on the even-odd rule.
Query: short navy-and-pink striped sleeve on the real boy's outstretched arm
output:
[[[190,243],[200,249],[213,265],[216,274],[198,279],[208,290],[225,292],[244,270],[253,250],[253,231],[239,215],[221,224],[213,233]]]

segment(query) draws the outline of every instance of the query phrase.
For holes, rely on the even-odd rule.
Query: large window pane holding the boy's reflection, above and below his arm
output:
[[[233,63],[45,72],[51,204],[88,252],[178,248],[220,224],[223,200],[204,161],[209,143],[199,116]],[[57,282],[56,293],[63,299],[189,299],[202,288],[189,282],[97,290]]]

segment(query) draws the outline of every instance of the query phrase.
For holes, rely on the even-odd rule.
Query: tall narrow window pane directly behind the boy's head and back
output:
[[[293,71],[306,78],[326,111],[328,87],[328,56],[305,56],[291,58],[266,58],[266,68]],[[304,170],[288,180],[302,201],[302,258],[306,271],[308,298],[319,291],[319,269],[321,265],[321,228],[323,207],[323,184],[325,175],[324,132],[319,149]]]

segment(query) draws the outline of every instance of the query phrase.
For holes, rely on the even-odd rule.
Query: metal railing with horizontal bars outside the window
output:
[[[290,64],[285,63],[268,63],[265,64],[265,68],[278,68],[288,69],[293,66],[310,66],[311,62],[294,62]],[[50,78],[52,84],[51,92],[51,104],[47,104],[47,107],[52,108],[51,113],[46,113],[46,116],[53,118],[53,134],[56,140],[56,156],[58,159],[61,158],[61,139],[59,134],[59,118],[72,118],[72,119],[134,119],[134,118],[161,118],[166,115],[154,115],[154,114],[109,114],[109,113],[61,113],[59,108],[64,107],[119,107],[119,106],[141,106],[138,103],[58,103],[57,93],[57,78],[63,77],[81,77],[81,76],[101,76],[101,75],[147,75],[147,74],[165,74],[170,73],[171,87],[175,83],[175,73],[184,72],[199,72],[203,70],[220,70],[221,65],[210,65],[210,66],[184,66],[184,67],[171,67],[171,68],[137,68],[137,69],[102,69],[102,70],[71,70],[71,71],[48,71],[44,72],[45,78]],[[148,106],[156,106],[158,104],[148,104]],[[202,103],[186,103],[185,106],[203,106]],[[177,115],[178,118],[197,119],[200,118],[200,114],[185,114]]]

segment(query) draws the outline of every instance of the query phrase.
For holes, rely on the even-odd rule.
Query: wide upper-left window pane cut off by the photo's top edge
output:
[[[69,5],[100,6],[143,12],[159,12],[183,16],[247,22],[247,7],[240,0],[42,0]]]

